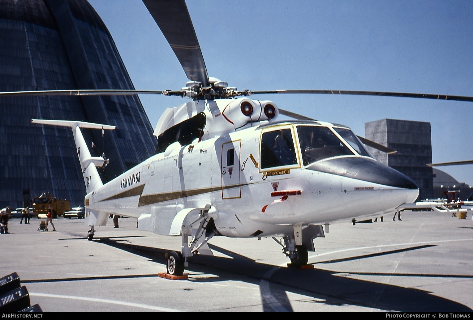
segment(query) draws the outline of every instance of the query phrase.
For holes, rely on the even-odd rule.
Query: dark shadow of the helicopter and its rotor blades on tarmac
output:
[[[100,242],[140,255],[160,264],[166,264],[166,253],[169,250],[135,245],[123,241],[123,237],[102,237],[93,241]],[[215,257],[196,255],[189,263],[188,271],[200,274],[212,274],[211,278],[192,278],[193,282],[215,282],[222,280],[237,280],[252,283],[260,287],[263,311],[292,312],[287,292],[305,295],[307,303],[324,303],[328,305],[353,305],[378,310],[395,312],[471,312],[469,307],[451,301],[427,291],[393,286],[367,280],[345,278],[340,276],[343,272],[333,272],[323,269],[298,269],[273,266],[259,263],[238,253],[230,252],[223,248],[209,244],[210,249],[223,253],[228,257]],[[399,253],[401,251],[421,250],[429,247],[422,245],[401,250],[386,251],[375,255]],[[319,263],[332,263],[349,261],[375,256],[373,254],[347,257],[341,260],[323,261]],[[453,275],[425,275],[425,274],[385,274],[385,273],[352,273],[373,276],[406,276],[406,277],[439,277],[439,278],[473,278],[473,276]],[[30,280],[28,282],[46,281],[77,281],[105,278],[145,278],[157,277],[157,274],[137,276],[111,276],[111,277],[85,277],[53,280]],[[314,305],[316,308],[316,305]]]

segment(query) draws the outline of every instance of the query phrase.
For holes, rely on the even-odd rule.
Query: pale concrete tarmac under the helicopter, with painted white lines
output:
[[[44,312],[472,312],[471,213],[401,219],[331,224],[309,269],[288,267],[271,238],[214,237],[215,256],[195,256],[186,280],[158,276],[180,237],[140,231],[136,219],[110,219],[93,241],[83,219],[54,219],[56,232],[10,219],[0,278],[17,272]]]

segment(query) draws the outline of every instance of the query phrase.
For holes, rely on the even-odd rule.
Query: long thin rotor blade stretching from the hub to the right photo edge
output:
[[[459,95],[429,94],[429,93],[403,93],[403,92],[380,92],[380,91],[342,91],[342,90],[269,90],[269,91],[252,91],[252,94],[263,93],[308,93],[308,94],[350,94],[350,95],[374,95],[384,97],[405,97],[405,98],[422,98],[437,100],[455,100],[455,101],[471,101],[473,97]]]

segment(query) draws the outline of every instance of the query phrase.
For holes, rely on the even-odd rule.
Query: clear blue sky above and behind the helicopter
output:
[[[188,81],[141,1],[89,0],[136,89]],[[240,90],[328,89],[473,96],[473,1],[188,0],[209,76]],[[140,95],[152,126],[184,98]],[[473,102],[258,95],[282,109],[350,126],[383,118],[431,123],[432,160],[473,159]],[[473,165],[441,167],[473,185]]]

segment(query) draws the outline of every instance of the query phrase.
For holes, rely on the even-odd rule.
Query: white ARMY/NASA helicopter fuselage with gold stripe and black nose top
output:
[[[298,224],[382,215],[418,194],[349,128],[280,122],[171,144],[88,194],[86,209],[153,215],[166,234],[177,212],[210,205],[223,236],[276,236]]]

